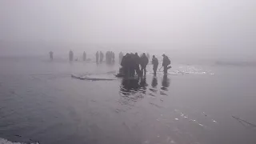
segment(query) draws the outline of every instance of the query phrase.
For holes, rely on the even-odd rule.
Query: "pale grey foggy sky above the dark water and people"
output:
[[[253,58],[255,38],[254,0],[0,1],[1,55],[102,46]]]

